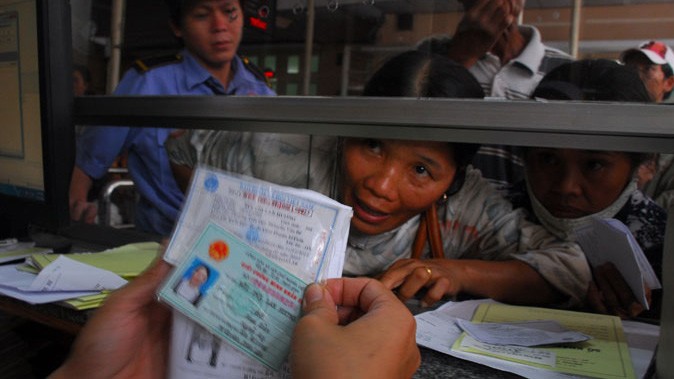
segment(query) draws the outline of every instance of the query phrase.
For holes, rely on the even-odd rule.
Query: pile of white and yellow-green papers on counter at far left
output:
[[[143,242],[100,253],[31,255],[22,264],[0,266],[0,293],[30,304],[96,308],[110,290],[145,270],[158,250],[158,243]]]

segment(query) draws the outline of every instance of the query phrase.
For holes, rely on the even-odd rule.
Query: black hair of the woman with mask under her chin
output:
[[[545,75],[532,97],[548,100],[651,102],[637,71],[608,59],[564,63]],[[633,169],[654,157],[650,153],[625,154],[629,156]]]

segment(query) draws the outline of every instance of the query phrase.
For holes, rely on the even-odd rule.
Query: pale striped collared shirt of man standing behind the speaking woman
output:
[[[487,53],[469,70],[484,89],[485,96],[502,99],[529,99],[543,76],[573,58],[561,50],[543,44],[541,33],[533,26],[520,26],[529,42],[517,57],[505,65]],[[473,165],[501,193],[524,179],[523,152],[517,146],[484,145]]]

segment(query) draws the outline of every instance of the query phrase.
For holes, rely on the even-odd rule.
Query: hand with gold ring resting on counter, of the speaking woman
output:
[[[406,301],[422,289],[427,289],[421,303],[431,306],[445,295],[456,296],[461,288],[459,280],[447,259],[401,259],[389,267],[379,280],[388,289],[396,289],[398,297]]]

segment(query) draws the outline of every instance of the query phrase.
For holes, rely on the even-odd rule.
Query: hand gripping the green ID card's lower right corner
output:
[[[414,317],[375,279],[311,284],[302,311],[292,339],[293,378],[409,378],[419,367]]]

